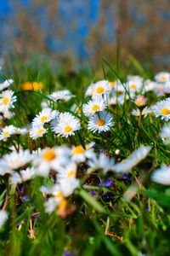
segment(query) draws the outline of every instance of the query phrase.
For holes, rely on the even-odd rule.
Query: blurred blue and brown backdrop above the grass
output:
[[[0,0],[0,56],[47,55],[73,68],[101,68],[133,55],[156,70],[170,67],[169,0]]]

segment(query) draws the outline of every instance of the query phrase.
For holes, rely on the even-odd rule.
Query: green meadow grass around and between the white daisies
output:
[[[162,165],[169,164],[169,145],[160,137],[161,128],[167,122],[153,113],[146,117],[134,116],[132,110],[138,109],[135,97],[130,96],[122,104],[108,104],[114,125],[106,132],[92,132],[88,129],[88,117],[82,113],[87,87],[99,79],[115,81],[119,79],[125,86],[127,75],[133,73],[144,79],[154,79],[152,71],[142,67],[133,56],[129,67],[121,64],[111,65],[103,60],[97,77],[89,67],[74,72],[64,68],[52,68],[44,61],[41,65],[32,61],[27,66],[22,61],[6,65],[1,73],[2,81],[14,79],[10,89],[17,96],[12,112],[14,117],[3,118],[1,127],[30,125],[36,114],[42,111],[41,103],[61,112],[69,112],[81,123],[82,129],[70,137],[57,137],[46,124],[48,133],[36,140],[29,134],[12,135],[0,142],[0,154],[11,154],[20,148],[54,148],[66,145],[82,145],[94,142],[94,152],[99,157],[104,154],[115,163],[127,159],[140,145],[150,146],[150,152],[133,166],[129,172],[116,175],[113,171],[87,172],[88,160],[77,164],[79,186],[67,197],[68,206],[56,208],[48,214],[44,210],[42,185],[53,185],[54,175],[36,176],[22,183],[8,183],[6,173],[0,180],[0,206],[8,212],[8,219],[0,230],[0,255],[168,255],[170,189],[163,184],[151,181],[152,173]],[[20,84],[42,82],[42,90],[23,90]],[[33,86],[33,85],[32,85]],[[32,88],[33,89],[33,88]],[[49,95],[54,90],[71,90],[74,95],[70,101],[54,101]],[[125,96],[129,91],[125,91]],[[156,95],[156,91],[143,92],[147,106],[167,97]],[[76,104],[75,109],[71,108]],[[78,109],[78,111],[77,111]],[[1,166],[0,166],[1,168]],[[26,166],[25,166],[26,168]],[[20,172],[20,170],[17,170]],[[4,207],[4,204],[7,205]]]

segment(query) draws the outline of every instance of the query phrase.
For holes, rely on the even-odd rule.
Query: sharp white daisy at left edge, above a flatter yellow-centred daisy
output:
[[[9,108],[14,108],[14,102],[16,102],[16,96],[14,96],[13,90],[4,90],[0,94],[0,112],[7,111]]]

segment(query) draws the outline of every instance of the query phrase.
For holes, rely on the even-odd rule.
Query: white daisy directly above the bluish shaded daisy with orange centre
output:
[[[104,111],[107,104],[102,97],[97,97],[93,101],[89,101],[82,106],[82,111],[85,115],[93,115],[96,112]]]

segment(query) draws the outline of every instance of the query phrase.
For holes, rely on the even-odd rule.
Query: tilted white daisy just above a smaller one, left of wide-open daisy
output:
[[[55,119],[59,113],[51,108],[43,108],[32,121],[32,127],[41,126]]]

